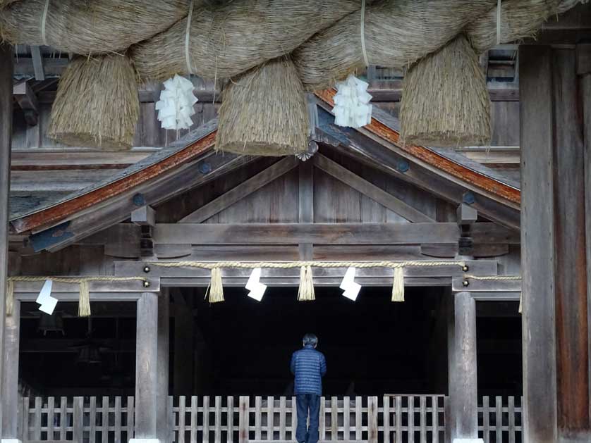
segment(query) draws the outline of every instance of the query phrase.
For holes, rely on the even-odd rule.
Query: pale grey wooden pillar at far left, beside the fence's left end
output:
[[[20,332],[20,301],[15,300],[12,316],[6,318],[4,328],[4,374],[1,401],[2,439],[18,438],[18,347]]]

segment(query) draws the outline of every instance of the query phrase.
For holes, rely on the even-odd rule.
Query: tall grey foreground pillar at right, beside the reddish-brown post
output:
[[[525,441],[555,443],[552,50],[520,46],[521,275]]]

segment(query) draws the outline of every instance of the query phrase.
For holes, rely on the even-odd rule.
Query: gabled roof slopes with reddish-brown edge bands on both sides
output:
[[[365,156],[365,160],[384,169],[390,168],[389,163],[397,158],[405,158],[411,165],[410,172],[397,171],[396,168],[390,170],[426,188],[431,185],[421,177],[429,174],[436,181],[439,180],[438,183],[445,185],[447,194],[441,189],[433,190],[453,201],[462,201],[463,192],[476,194],[475,206],[480,205],[478,210],[482,209],[483,215],[495,220],[494,215],[491,216],[487,211],[492,213],[501,208],[495,221],[508,227],[518,227],[520,191],[518,184],[511,179],[470,161],[461,154],[402,144],[398,120],[375,107],[370,125],[360,130],[338,128],[334,126],[327,112],[332,107],[333,96],[333,90],[317,94],[319,112],[328,116],[319,121],[317,142],[328,140],[333,144],[339,144],[343,151],[351,154],[355,151],[355,155]],[[80,234],[71,226],[71,236],[89,235],[108,227],[109,224],[119,223],[128,218],[134,208],[132,200],[135,194],[140,195],[142,199],[145,198],[143,204],[156,204],[252,161],[252,157],[249,156],[217,154],[214,151],[216,133],[217,120],[212,120],[172,146],[126,169],[118,170],[108,179],[78,192],[60,195],[59,199],[53,201],[39,199],[33,202],[34,204],[21,202],[20,205],[14,206],[19,198],[15,195],[11,199],[11,227],[14,232],[23,233],[42,232],[68,222],[74,226],[77,219],[88,216],[99,208],[107,208],[109,217],[104,218],[103,225],[92,226],[91,230],[79,229]],[[351,141],[349,138],[355,140]],[[364,146],[370,146],[370,149],[366,151]],[[135,205],[138,205],[137,201]],[[88,225],[92,220],[85,220],[84,223]]]

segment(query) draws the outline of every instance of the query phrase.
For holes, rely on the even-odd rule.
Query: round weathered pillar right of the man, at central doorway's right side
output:
[[[453,323],[453,325],[451,325]],[[453,351],[449,366],[451,438],[478,437],[478,397],[476,373],[476,302],[470,292],[453,297]],[[453,337],[452,337],[453,336]]]

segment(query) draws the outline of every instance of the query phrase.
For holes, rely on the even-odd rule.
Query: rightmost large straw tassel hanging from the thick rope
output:
[[[490,143],[487,79],[463,35],[408,70],[400,122],[403,141],[409,144],[456,147]]]

